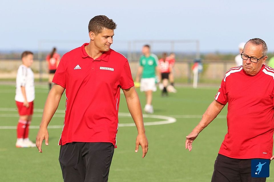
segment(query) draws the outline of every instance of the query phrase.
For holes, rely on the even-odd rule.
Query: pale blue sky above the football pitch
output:
[[[200,41],[202,52],[237,52],[240,42],[258,37],[274,51],[271,0],[2,0],[0,7],[0,51],[37,50],[41,40],[68,41],[40,43],[43,49],[53,44],[60,49],[81,46],[89,42],[88,22],[96,15],[106,15],[118,24],[113,44],[118,49],[127,47],[123,41],[193,39]],[[195,50],[194,45],[190,47]]]

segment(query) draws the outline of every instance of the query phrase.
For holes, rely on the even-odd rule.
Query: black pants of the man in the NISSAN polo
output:
[[[113,153],[112,143],[72,142],[61,146],[64,182],[107,182]]]

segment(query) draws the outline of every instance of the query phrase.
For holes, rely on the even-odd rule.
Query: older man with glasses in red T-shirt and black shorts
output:
[[[267,45],[249,40],[241,53],[243,65],[227,71],[215,100],[200,123],[186,137],[186,149],[198,134],[227,107],[227,134],[215,161],[211,181],[266,181],[251,177],[251,159],[273,160],[274,69],[264,65]]]

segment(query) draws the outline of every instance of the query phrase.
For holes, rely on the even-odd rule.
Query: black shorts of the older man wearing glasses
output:
[[[211,182],[265,182],[265,177],[251,177],[251,160],[218,154]]]

